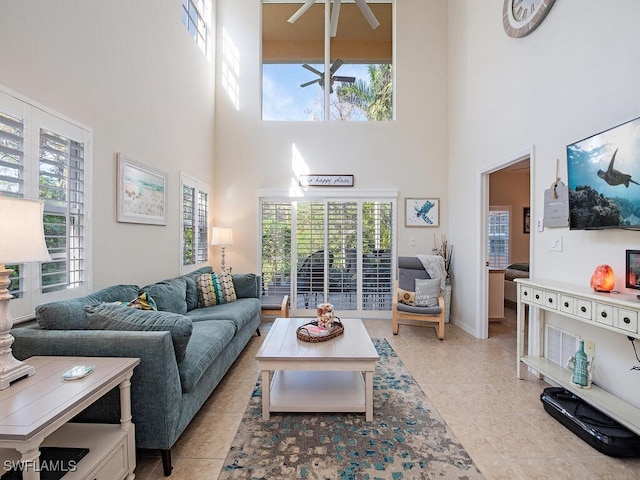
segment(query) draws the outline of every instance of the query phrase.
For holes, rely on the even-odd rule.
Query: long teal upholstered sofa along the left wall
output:
[[[38,306],[36,319],[16,325],[13,353],[138,357],[131,381],[136,446],[159,449],[171,474],[171,447],[254,334],[260,334],[260,277],[232,275],[237,300],[203,307],[204,267],[156,284],[115,285],[85,297]],[[126,306],[147,292],[158,311]],[[114,302],[124,302],[118,304]],[[77,421],[118,423],[117,389]]]

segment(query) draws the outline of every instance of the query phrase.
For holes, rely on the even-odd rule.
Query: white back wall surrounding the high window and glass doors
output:
[[[259,271],[256,192],[291,185],[294,147],[309,173],[353,174],[355,188],[397,188],[398,253],[431,253],[449,217],[446,2],[398,0],[397,121],[380,123],[262,122],[259,6],[218,1],[218,71],[225,33],[239,58],[237,110],[217,78],[216,222],[232,226],[236,242],[226,249],[227,265]],[[404,197],[416,196],[441,198],[440,228],[404,227]]]

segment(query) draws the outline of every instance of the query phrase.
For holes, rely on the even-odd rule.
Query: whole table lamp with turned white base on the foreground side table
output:
[[[13,270],[5,268],[5,264],[51,260],[44,241],[43,211],[44,205],[39,201],[0,195],[0,390],[35,373],[32,366],[11,354],[14,339],[9,333],[13,326],[9,300],[13,295],[8,287]]]

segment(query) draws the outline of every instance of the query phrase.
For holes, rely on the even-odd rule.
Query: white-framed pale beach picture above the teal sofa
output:
[[[118,222],[167,224],[167,175],[118,153]]]

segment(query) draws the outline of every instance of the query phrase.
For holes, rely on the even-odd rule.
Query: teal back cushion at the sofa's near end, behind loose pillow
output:
[[[84,297],[44,303],[36,307],[36,320],[46,330],[86,330],[89,321],[84,307],[102,302],[130,301],[138,296],[137,285],[113,285]]]

